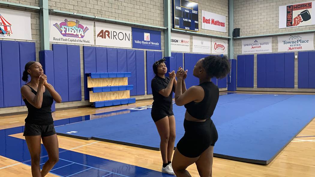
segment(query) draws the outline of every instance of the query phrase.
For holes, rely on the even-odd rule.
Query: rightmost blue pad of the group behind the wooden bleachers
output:
[[[145,78],[144,78],[144,51],[136,50],[136,78],[137,78],[137,95],[145,95]],[[129,84],[129,83],[128,83]]]

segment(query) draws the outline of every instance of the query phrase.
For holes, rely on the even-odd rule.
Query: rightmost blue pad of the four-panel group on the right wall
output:
[[[284,53],[284,87],[294,88],[294,52]]]

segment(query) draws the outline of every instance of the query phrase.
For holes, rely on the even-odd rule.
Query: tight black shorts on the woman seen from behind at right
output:
[[[209,146],[215,146],[218,132],[211,119],[204,122],[184,120],[184,136],[178,141],[177,150],[188,158],[200,156]]]

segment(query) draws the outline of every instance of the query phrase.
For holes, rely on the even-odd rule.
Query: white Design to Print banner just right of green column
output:
[[[171,51],[190,52],[190,36],[171,33]]]

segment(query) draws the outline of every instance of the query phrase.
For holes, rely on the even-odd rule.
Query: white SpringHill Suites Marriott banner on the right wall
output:
[[[242,39],[242,54],[272,52],[272,37]]]

